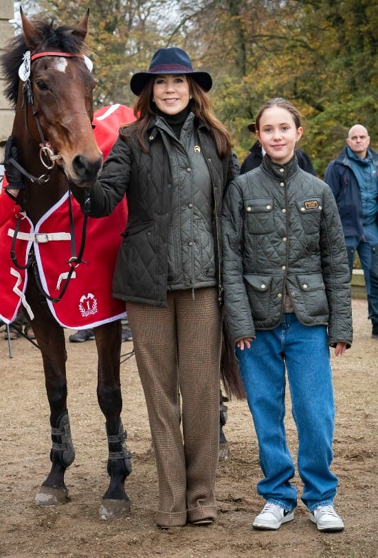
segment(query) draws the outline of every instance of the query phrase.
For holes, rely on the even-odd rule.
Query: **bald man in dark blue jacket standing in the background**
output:
[[[344,229],[349,269],[359,255],[368,295],[372,337],[378,339],[378,153],[369,147],[365,126],[355,124],[346,148],[326,168]]]

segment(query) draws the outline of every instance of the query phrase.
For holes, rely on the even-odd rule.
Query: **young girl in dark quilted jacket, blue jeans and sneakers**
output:
[[[274,98],[256,117],[266,155],[234,179],[222,212],[227,322],[258,437],[265,498],[254,527],[293,519],[297,491],[285,433],[285,369],[298,431],[302,501],[320,531],[341,531],[333,508],[335,405],[329,346],[352,342],[351,290],[344,236],[329,186],[298,166],[300,115]]]

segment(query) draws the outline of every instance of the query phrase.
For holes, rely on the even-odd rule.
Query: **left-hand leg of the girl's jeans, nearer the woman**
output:
[[[257,331],[251,348],[236,349],[249,409],[258,438],[260,466],[265,478],[257,490],[268,502],[291,511],[297,491],[290,482],[294,465],[286,442],[285,363],[282,355],[285,323]]]

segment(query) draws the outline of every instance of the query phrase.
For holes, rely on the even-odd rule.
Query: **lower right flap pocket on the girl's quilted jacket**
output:
[[[322,274],[297,275],[296,280],[298,291],[293,296],[296,310],[308,317],[322,316],[328,320],[329,306]],[[309,320],[303,317],[303,321]]]

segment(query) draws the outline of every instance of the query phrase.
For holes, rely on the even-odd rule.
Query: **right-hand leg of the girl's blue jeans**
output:
[[[298,430],[302,500],[312,511],[332,504],[337,487],[330,471],[335,405],[326,327],[304,326],[292,314],[285,355]]]

